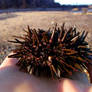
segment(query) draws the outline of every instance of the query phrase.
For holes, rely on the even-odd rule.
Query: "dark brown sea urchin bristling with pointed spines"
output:
[[[26,35],[11,41],[18,46],[9,57],[18,58],[20,70],[29,74],[54,79],[67,77],[88,70],[87,64],[92,64],[86,36],[87,32],[80,33],[72,27],[67,30],[64,24],[48,31],[28,26]]]

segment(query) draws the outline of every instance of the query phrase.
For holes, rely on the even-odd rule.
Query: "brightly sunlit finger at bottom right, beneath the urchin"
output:
[[[64,79],[61,81],[59,92],[89,92],[89,85],[84,85],[77,81]]]

